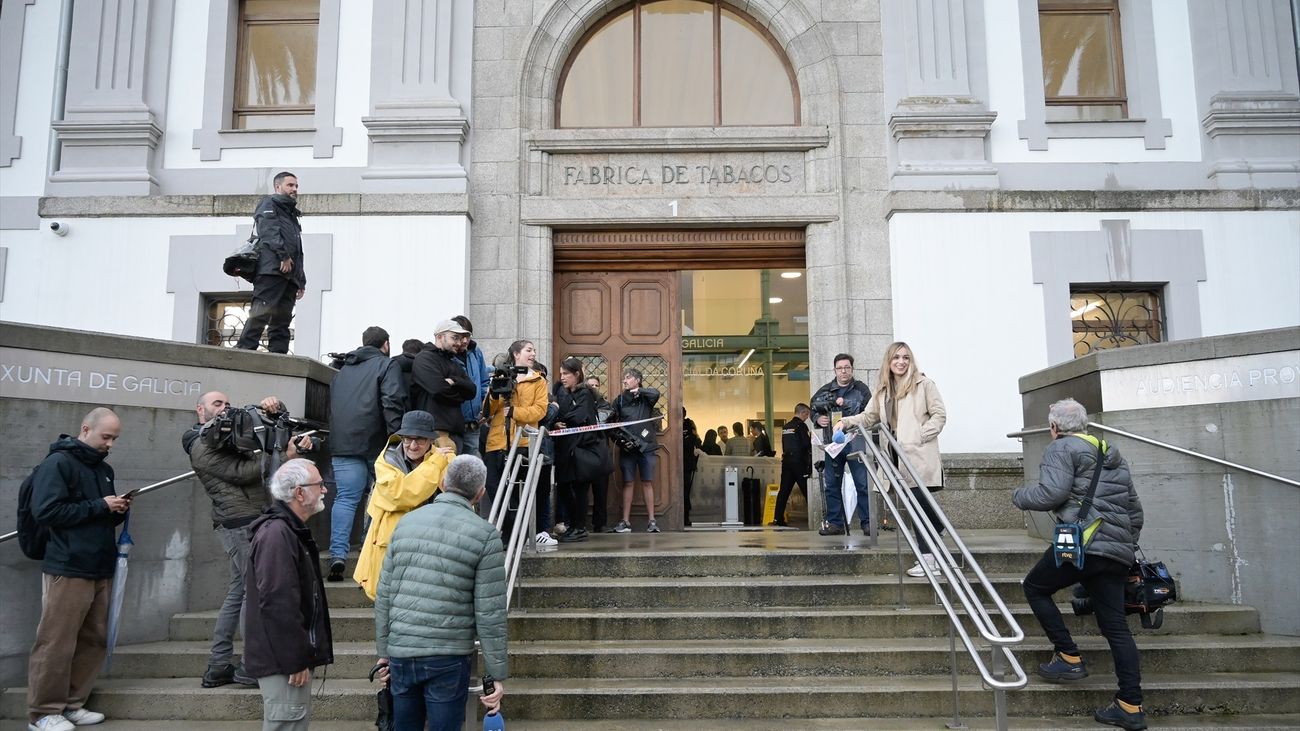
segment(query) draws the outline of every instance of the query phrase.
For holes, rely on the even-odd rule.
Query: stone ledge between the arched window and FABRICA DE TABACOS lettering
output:
[[[538,130],[526,135],[542,152],[805,152],[831,143],[827,127],[629,127]]]

